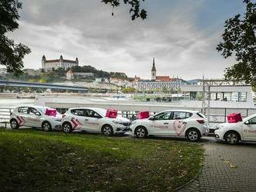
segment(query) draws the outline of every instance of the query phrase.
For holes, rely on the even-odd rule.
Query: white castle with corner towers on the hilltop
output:
[[[62,55],[58,60],[47,60],[44,55],[42,57],[42,68],[46,72],[60,67],[67,70],[67,68],[74,66],[78,66],[78,57],[76,57],[75,60],[64,60]]]

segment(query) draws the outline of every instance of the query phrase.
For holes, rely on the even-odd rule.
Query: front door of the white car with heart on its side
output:
[[[150,120],[150,134],[166,135],[171,129],[171,111],[164,111],[153,117]]]

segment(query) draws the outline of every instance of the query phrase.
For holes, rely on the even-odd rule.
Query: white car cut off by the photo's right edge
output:
[[[216,127],[215,138],[230,144],[256,142],[256,114],[244,118],[242,122],[222,123]]]

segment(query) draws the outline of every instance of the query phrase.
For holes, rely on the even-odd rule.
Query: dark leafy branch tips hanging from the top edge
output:
[[[105,2],[106,4],[112,5],[113,8],[118,7],[120,5],[121,0],[102,0],[102,2]],[[141,0],[144,2],[144,0]],[[146,19],[147,18],[147,12],[144,9],[140,10],[140,0],[123,0],[123,3],[126,5],[130,5],[130,14],[131,14],[131,19]],[[114,13],[112,12],[112,15]]]

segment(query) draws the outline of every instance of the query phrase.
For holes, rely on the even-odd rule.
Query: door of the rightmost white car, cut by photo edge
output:
[[[243,124],[244,140],[256,141],[256,117]]]

